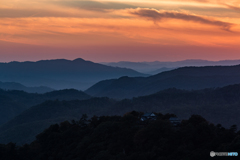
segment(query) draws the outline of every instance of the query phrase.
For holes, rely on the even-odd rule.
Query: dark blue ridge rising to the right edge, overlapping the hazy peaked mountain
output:
[[[156,93],[168,88],[204,89],[223,87],[240,82],[240,65],[215,67],[184,67],[150,77],[121,77],[104,80],[85,92],[92,96],[116,99]]]

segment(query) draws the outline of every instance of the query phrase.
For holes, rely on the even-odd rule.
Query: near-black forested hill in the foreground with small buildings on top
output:
[[[240,132],[225,129],[199,115],[170,121],[173,114],[140,121],[142,112],[124,116],[82,115],[78,121],[51,125],[31,144],[0,145],[1,160],[202,160],[212,159],[210,151],[240,152]],[[214,157],[226,158],[226,157]]]

